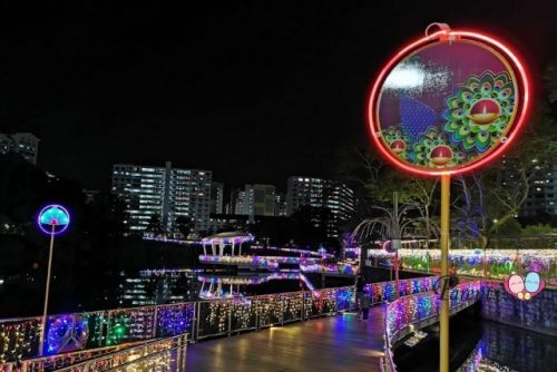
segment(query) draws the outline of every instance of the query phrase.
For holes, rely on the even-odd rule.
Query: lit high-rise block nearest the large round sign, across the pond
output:
[[[324,179],[293,176],[287,182],[286,215],[292,215],[302,206],[314,211],[329,211],[331,218],[326,222],[329,237],[339,237],[339,227],[350,221],[354,214],[354,193],[346,185]],[[322,216],[323,214],[321,214]],[[322,218],[316,215],[314,218]]]

